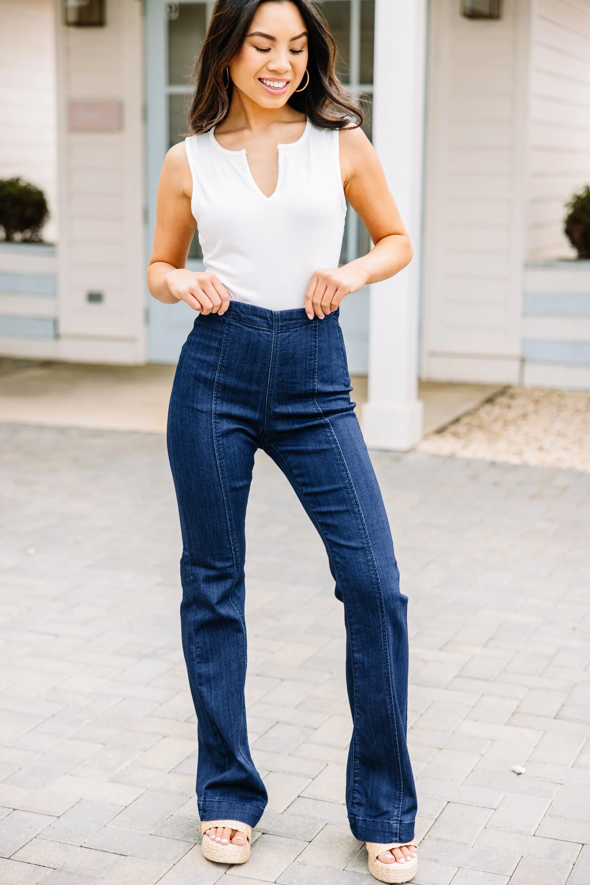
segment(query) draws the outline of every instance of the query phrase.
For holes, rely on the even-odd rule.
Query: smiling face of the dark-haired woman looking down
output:
[[[294,3],[262,3],[229,65],[234,87],[264,108],[280,108],[307,80],[307,30]],[[302,82],[303,81],[303,82]]]

